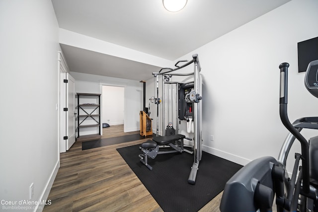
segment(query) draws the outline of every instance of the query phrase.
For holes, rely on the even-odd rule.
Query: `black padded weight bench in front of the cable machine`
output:
[[[140,145],[140,149],[143,154],[139,154],[140,161],[147,166],[150,170],[153,169],[152,166],[148,164],[148,157],[154,159],[158,154],[166,154],[172,152],[183,152],[186,149],[183,148],[184,135],[172,135],[172,136],[157,136],[153,140],[148,140]],[[159,147],[171,147],[173,150],[159,151]],[[187,152],[192,153],[187,150]]]

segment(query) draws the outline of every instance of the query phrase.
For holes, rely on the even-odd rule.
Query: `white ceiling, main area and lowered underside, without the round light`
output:
[[[52,3],[60,28],[174,61],[288,1],[188,0],[179,12],[168,12],[161,0],[52,0]],[[61,46],[70,70],[75,72],[143,80],[160,69]]]

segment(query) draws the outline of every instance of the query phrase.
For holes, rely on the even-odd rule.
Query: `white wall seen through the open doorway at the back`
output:
[[[109,125],[124,124],[125,88],[103,85],[103,117],[102,123]]]

